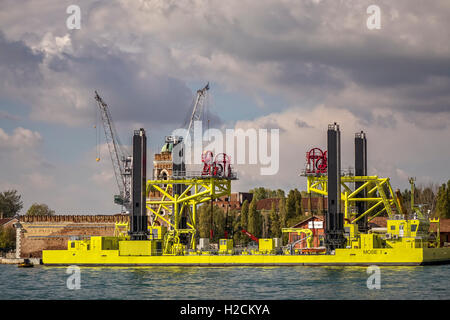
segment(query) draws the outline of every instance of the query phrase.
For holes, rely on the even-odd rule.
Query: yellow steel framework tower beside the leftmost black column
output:
[[[173,194],[176,185],[183,185],[181,194]],[[222,196],[231,194],[231,180],[226,178],[208,177],[193,179],[148,180],[147,194],[159,191],[161,198],[147,200],[147,209],[150,213],[152,226],[159,219],[165,222],[168,230],[164,236],[164,254],[181,254],[183,246],[180,244],[180,235],[190,235],[190,248],[195,250],[196,245],[196,218],[197,205]],[[163,214],[164,209],[166,214]],[[187,228],[180,228],[182,216],[187,217]]]

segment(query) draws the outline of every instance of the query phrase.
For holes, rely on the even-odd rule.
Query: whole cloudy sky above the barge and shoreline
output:
[[[381,29],[369,30],[369,5]],[[78,5],[81,29],[69,30]],[[234,191],[300,188],[305,152],[338,122],[342,166],[368,137],[369,174],[394,188],[450,178],[448,0],[0,0],[0,191],[58,213],[115,213],[111,162],[96,157],[94,90],[124,143],[149,152],[211,84],[219,128],[279,128],[280,169],[237,166]],[[102,140],[104,144],[104,138]],[[150,155],[152,157],[152,155]]]

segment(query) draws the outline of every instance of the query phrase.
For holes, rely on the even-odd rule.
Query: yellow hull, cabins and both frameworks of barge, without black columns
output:
[[[357,190],[352,183],[362,182]],[[183,184],[180,195],[172,195],[176,184]],[[296,232],[304,237],[307,250],[276,250],[274,239],[259,239],[258,248],[236,250],[233,240],[220,239],[216,251],[196,249],[197,205],[231,192],[230,180],[186,179],[149,180],[147,191],[156,189],[163,195],[159,200],[148,200],[150,213],[148,240],[131,241],[127,235],[128,224],[118,224],[114,237],[91,237],[88,240],[71,240],[67,250],[44,250],[42,261],[49,265],[188,265],[188,266],[237,266],[237,265],[421,265],[450,263],[450,248],[439,248],[438,235],[429,233],[430,223],[438,219],[425,219],[416,214],[406,219],[398,214],[398,201],[388,178],[342,177],[344,205],[345,247],[331,252],[310,248],[312,232],[309,229],[286,228],[283,232]],[[363,189],[366,198],[356,197]],[[308,192],[326,195],[324,177],[308,177]],[[385,192],[385,190],[388,190]],[[355,217],[352,207],[357,201],[370,205],[363,215]],[[163,210],[164,209],[164,210]],[[386,228],[373,228],[367,233],[358,231],[357,221],[364,215],[370,219],[386,212]],[[415,210],[416,213],[420,213]],[[369,221],[370,221],[369,219]],[[183,221],[185,221],[183,225]],[[164,226],[165,224],[166,226]],[[184,241],[182,239],[184,238]],[[285,247],[285,248],[289,248]]]

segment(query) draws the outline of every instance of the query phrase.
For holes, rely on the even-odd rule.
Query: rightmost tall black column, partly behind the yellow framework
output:
[[[355,176],[367,176],[367,140],[366,134],[361,131],[355,134]],[[355,189],[358,189],[364,182],[356,182]],[[365,198],[367,196],[366,190],[358,193],[358,198]],[[367,210],[365,201],[356,202],[356,217],[360,216]],[[367,216],[362,217],[357,221],[358,230],[367,232]]]

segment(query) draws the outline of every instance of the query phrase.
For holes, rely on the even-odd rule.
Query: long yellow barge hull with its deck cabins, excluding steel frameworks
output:
[[[437,220],[433,220],[437,222]],[[136,265],[136,266],[288,266],[288,265],[426,265],[450,263],[450,247],[424,240],[422,231],[429,226],[420,219],[387,220],[389,233],[357,234],[355,224],[346,225],[347,248],[332,253],[276,254],[274,239],[260,239],[257,250],[237,253],[231,239],[221,239],[219,250],[164,253],[165,228],[155,227],[153,240],[129,240],[126,236],[91,237],[71,240],[67,250],[44,250],[46,265]],[[305,250],[307,251],[307,250]]]

